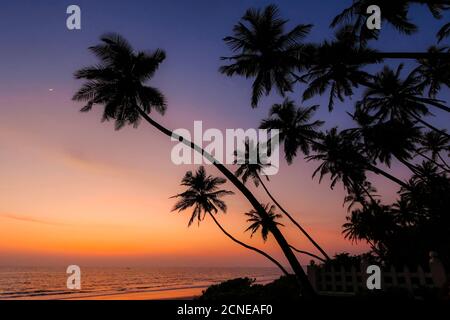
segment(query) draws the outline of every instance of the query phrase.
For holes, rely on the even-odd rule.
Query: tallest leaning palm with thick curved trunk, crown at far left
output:
[[[90,49],[99,58],[100,63],[75,73],[77,79],[86,80],[86,83],[73,97],[75,101],[86,103],[82,111],[89,111],[94,105],[103,105],[102,120],[114,120],[116,129],[120,129],[126,124],[136,127],[141,119],[144,119],[166,136],[178,139],[202,154],[245,196],[262,217],[267,216],[264,208],[250,190],[222,163],[199,146],[173,133],[149,116],[152,110],[161,114],[166,110],[163,94],[158,89],[146,85],[146,81],[152,78],[159,65],[164,61],[163,50],[151,53],[136,52],[128,41],[117,34],[102,36],[101,44]],[[315,292],[311,283],[281,231],[275,226],[271,232],[292,267],[302,293],[305,296],[314,296]]]

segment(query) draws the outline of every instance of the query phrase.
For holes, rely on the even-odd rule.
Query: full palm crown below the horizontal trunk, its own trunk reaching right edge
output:
[[[380,122],[387,119],[419,122],[431,130],[442,132],[422,117],[430,115],[429,106],[447,112],[450,112],[450,108],[439,100],[422,96],[423,82],[416,73],[410,73],[405,80],[400,79],[402,69],[403,65],[396,71],[385,66],[383,71],[376,75],[372,86],[366,90],[357,107]]]

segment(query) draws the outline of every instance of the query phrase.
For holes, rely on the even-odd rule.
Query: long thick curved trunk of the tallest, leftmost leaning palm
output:
[[[136,109],[138,110],[139,114],[144,118],[150,125],[167,135],[168,137],[177,138],[180,142],[184,143],[186,146],[190,147],[191,149],[197,151],[200,153],[203,157],[205,157],[207,160],[209,160],[216,168],[219,170],[251,203],[253,208],[258,212],[258,214],[263,219],[268,219],[267,212],[264,210],[262,205],[259,203],[259,201],[255,198],[255,196],[248,190],[248,188],[230,171],[228,170],[223,164],[219,163],[216,159],[214,159],[213,156],[211,156],[209,153],[207,153],[205,150],[197,146],[195,143],[188,141],[187,139],[184,139],[183,137],[174,134],[171,130],[163,127],[158,122],[154,121],[152,118],[150,118],[141,108],[136,106]],[[289,262],[289,265],[291,266],[292,270],[295,273],[296,279],[298,281],[298,284],[300,286],[300,290],[302,292],[302,295],[305,297],[314,297],[316,296],[316,293],[311,285],[311,283],[308,280],[308,277],[306,276],[305,271],[303,270],[302,266],[300,265],[299,261],[297,260],[297,257],[295,256],[294,252],[292,252],[291,248],[289,247],[288,242],[284,238],[281,231],[278,229],[276,225],[273,225],[270,227],[270,232],[274,236],[275,240],[277,241],[278,245],[280,246],[281,250],[283,251],[284,256]]]

